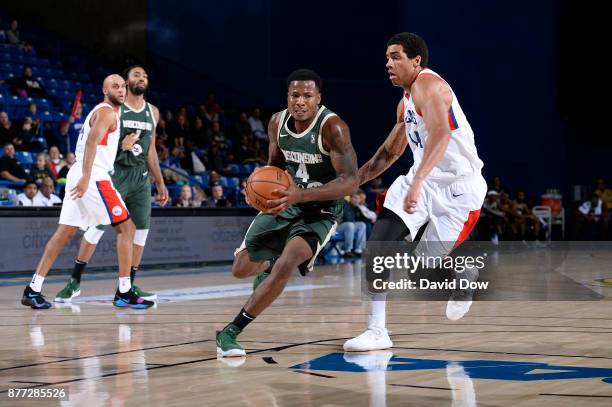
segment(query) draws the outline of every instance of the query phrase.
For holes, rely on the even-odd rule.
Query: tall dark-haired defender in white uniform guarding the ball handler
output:
[[[412,33],[396,34],[387,43],[389,79],[404,90],[397,123],[374,156],[359,169],[363,184],[380,176],[410,146],[414,164],[387,191],[384,209],[371,241],[414,238],[428,222],[421,242],[436,242],[445,256],[465,240],[480,214],[487,184],[480,171],[474,134],[453,90],[427,68],[425,41]],[[418,248],[417,248],[418,250]],[[420,251],[418,251],[420,253]],[[450,300],[446,315],[461,318],[471,300]],[[372,295],[368,329],[344,344],[346,351],[393,346],[385,328],[385,295]]]

